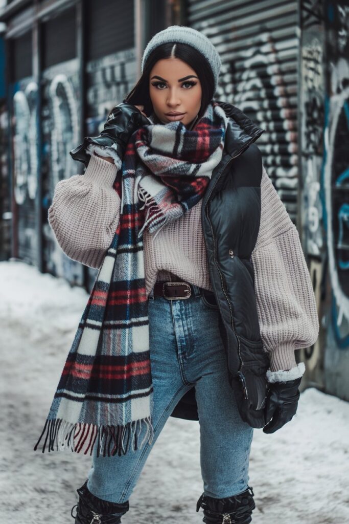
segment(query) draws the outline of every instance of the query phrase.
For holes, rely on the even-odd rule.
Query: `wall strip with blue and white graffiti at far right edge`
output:
[[[324,4],[327,96],[324,230],[331,285],[325,352],[327,390],[349,400],[349,2]]]

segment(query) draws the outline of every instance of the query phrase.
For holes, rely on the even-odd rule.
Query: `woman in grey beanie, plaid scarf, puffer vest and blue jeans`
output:
[[[316,302],[263,130],[212,100],[220,65],[200,32],[157,33],[103,132],[71,152],[84,176],[55,188],[58,242],[99,268],[42,432],[43,451],[92,454],[76,523],[121,522],[169,416],[200,423],[204,522],[251,522],[253,428],[297,410]]]

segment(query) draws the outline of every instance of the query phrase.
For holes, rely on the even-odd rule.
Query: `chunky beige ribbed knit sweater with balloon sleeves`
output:
[[[92,155],[83,176],[61,180],[54,190],[48,212],[50,226],[63,252],[86,266],[102,265],[119,221],[120,199],[112,188],[116,173],[114,163]],[[317,304],[297,228],[264,167],[261,200],[261,225],[251,257],[261,337],[269,352],[271,372],[293,372],[295,350],[314,344],[318,338]],[[144,230],[148,295],[156,279],[171,278],[168,272],[212,289],[200,209],[201,201],[164,226],[155,238]],[[302,375],[298,370],[291,378]]]

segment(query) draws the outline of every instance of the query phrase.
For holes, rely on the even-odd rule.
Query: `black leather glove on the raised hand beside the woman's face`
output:
[[[99,136],[90,137],[85,136],[83,143],[72,149],[70,155],[74,160],[83,162],[87,167],[89,159],[91,158],[86,153],[86,148],[89,144],[96,144],[101,147],[111,147],[114,145],[114,149],[120,159],[128,143],[130,136],[136,129],[144,125],[149,125],[151,122],[147,117],[142,115],[139,109],[129,104],[128,102],[121,102],[112,108],[107,118],[107,122],[104,124],[103,131]]]

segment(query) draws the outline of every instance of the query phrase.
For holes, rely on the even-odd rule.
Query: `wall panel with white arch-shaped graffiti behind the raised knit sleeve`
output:
[[[69,154],[76,144],[80,123],[78,60],[52,65],[42,75],[42,193],[43,212],[51,205],[57,182],[77,173]],[[83,284],[83,267],[67,257],[47,221],[43,224],[44,270]]]

